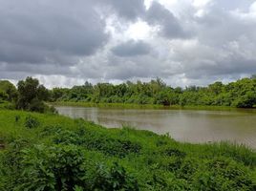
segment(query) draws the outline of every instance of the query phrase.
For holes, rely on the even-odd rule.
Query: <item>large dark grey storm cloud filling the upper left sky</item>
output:
[[[108,39],[91,1],[0,1],[0,61],[70,64]],[[67,56],[68,55],[68,56]],[[61,59],[61,57],[65,59]]]

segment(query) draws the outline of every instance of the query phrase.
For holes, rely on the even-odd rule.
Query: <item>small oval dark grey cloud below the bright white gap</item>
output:
[[[144,55],[150,52],[150,45],[145,42],[139,40],[129,40],[122,44],[117,45],[112,49],[112,52],[118,56],[136,56],[136,55]]]

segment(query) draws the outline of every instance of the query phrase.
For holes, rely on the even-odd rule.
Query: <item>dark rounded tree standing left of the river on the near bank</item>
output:
[[[17,84],[18,99],[16,108],[43,113],[46,105],[43,101],[49,99],[49,92],[39,84],[38,79],[27,77],[26,80],[21,80]]]

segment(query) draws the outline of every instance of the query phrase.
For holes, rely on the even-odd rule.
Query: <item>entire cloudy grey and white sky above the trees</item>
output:
[[[0,79],[48,88],[256,74],[255,0],[0,0]]]

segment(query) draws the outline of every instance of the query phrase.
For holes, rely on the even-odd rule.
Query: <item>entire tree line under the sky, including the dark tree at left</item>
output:
[[[10,81],[0,81],[0,102],[9,101],[16,109],[46,112],[51,110],[46,101],[93,103],[161,104],[164,106],[256,106],[256,76],[223,84],[220,81],[207,87],[173,88],[160,78],[150,82],[131,82],[114,85],[85,82],[73,88],[46,89],[36,78],[20,80],[17,88]],[[52,109],[53,110],[53,109]]]

